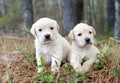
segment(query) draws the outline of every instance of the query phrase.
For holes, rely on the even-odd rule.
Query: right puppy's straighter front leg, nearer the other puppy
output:
[[[76,72],[80,72],[82,70],[80,63],[81,63],[80,57],[72,54],[70,58],[70,64],[73,66]]]

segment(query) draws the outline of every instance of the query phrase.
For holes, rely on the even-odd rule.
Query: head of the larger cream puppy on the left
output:
[[[58,34],[59,26],[55,20],[50,18],[41,18],[32,25],[30,32],[40,43],[49,43],[53,41]]]

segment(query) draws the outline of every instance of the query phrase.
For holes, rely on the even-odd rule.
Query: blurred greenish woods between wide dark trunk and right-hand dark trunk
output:
[[[94,26],[97,34],[109,32],[106,0],[84,0],[84,20]]]

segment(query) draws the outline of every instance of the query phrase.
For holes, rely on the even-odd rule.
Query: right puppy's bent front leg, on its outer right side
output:
[[[94,62],[95,62],[95,59],[93,59],[93,58],[88,59],[86,62],[83,63],[82,71],[87,72]]]

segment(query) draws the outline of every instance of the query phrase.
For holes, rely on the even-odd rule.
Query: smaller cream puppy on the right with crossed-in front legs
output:
[[[96,55],[99,50],[94,46],[95,34],[94,28],[85,23],[77,24],[69,33],[72,45],[68,59],[77,72],[87,72],[90,66],[97,61]],[[81,65],[84,58],[87,60]]]

